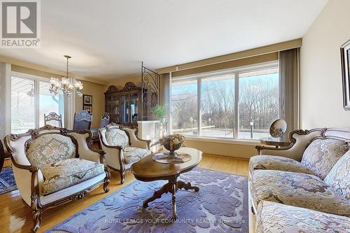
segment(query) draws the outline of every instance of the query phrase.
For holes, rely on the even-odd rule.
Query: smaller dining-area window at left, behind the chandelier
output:
[[[62,114],[63,95],[53,97],[48,87],[50,80],[13,72],[11,76],[11,133],[20,134],[44,125],[43,115]],[[55,121],[50,125],[55,125]],[[56,125],[58,126],[58,125]]]

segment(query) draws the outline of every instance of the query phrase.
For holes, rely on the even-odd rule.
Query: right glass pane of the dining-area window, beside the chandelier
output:
[[[39,127],[43,127],[44,123],[44,113],[54,112],[58,115],[62,115],[62,127],[64,127],[64,107],[63,107],[63,94],[58,94],[57,96],[52,96],[49,92],[50,83],[39,82]],[[50,120],[47,122],[48,125],[53,125],[58,127],[58,122],[55,120]]]

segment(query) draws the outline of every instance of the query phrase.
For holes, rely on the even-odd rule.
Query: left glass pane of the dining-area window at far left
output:
[[[11,77],[11,132],[35,128],[34,80]]]

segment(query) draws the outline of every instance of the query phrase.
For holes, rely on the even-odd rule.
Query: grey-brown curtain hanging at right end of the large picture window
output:
[[[279,52],[279,90],[279,115],[288,133],[299,127],[299,48]]]

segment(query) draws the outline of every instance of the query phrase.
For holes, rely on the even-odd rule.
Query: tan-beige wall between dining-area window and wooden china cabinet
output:
[[[99,127],[101,116],[104,114],[104,92],[106,85],[80,80],[83,83],[83,94],[92,95],[92,128]],[[83,110],[83,97],[76,97],[76,112]]]

